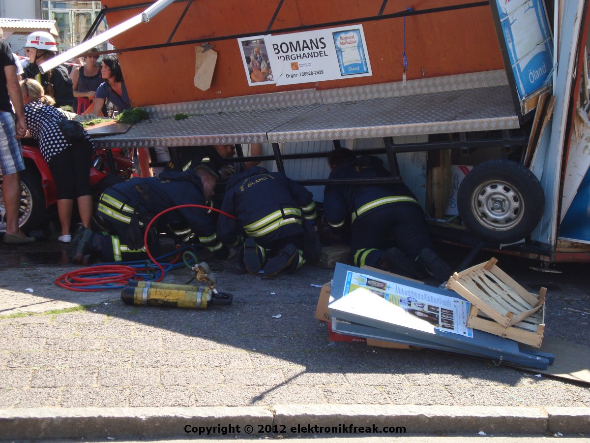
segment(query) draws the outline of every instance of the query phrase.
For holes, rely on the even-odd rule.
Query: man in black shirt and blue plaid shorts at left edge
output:
[[[0,37],[2,37],[1,29]],[[18,172],[24,170],[25,164],[22,159],[21,142],[16,138],[25,135],[27,125],[22,106],[21,87],[17,79],[17,66],[14,64],[12,51],[4,40],[0,40],[0,66],[2,66],[0,69],[0,174],[2,174],[4,221],[6,222],[6,233],[2,237],[2,242],[27,245],[35,239],[27,237],[18,227],[21,198],[21,180]]]

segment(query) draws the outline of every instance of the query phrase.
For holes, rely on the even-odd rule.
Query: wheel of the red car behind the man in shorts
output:
[[[21,205],[19,208],[18,226],[24,232],[30,232],[45,221],[45,194],[41,187],[41,177],[37,171],[25,169],[19,172],[21,179]],[[0,175],[0,183],[2,176]],[[1,211],[4,214],[4,195],[0,187]],[[6,220],[0,219],[0,232],[6,232]]]

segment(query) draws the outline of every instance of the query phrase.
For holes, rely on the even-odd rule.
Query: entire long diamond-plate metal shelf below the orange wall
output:
[[[519,128],[504,71],[144,108],[103,148],[304,142]],[[177,113],[188,116],[175,119]]]

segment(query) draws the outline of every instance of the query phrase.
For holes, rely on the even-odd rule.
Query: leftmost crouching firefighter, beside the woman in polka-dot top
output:
[[[103,233],[80,228],[68,248],[68,258],[81,263],[87,254],[101,254],[108,262],[145,258],[145,227],[160,212],[183,204],[205,205],[214,194],[217,174],[200,165],[186,172],[162,172],[160,177],[132,178],[108,188],[100,196],[98,216]],[[186,238],[194,233],[217,258],[228,258],[230,250],[215,234],[207,210],[187,207],[169,211],[152,224],[148,247],[152,256],[159,250],[159,229],[172,230]],[[235,255],[234,255],[235,256]]]

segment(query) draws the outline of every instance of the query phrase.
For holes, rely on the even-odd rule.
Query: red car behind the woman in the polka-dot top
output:
[[[21,142],[26,169],[20,172],[22,191],[18,224],[25,232],[31,232],[40,227],[53,212],[50,209],[57,202],[57,191],[37,142],[32,139],[22,139]],[[94,196],[99,196],[107,187],[131,177],[133,162],[125,154],[122,149],[112,149],[116,171],[111,174],[106,150],[97,149],[90,168],[90,185]],[[0,187],[0,233],[6,232],[4,214],[4,196]]]

